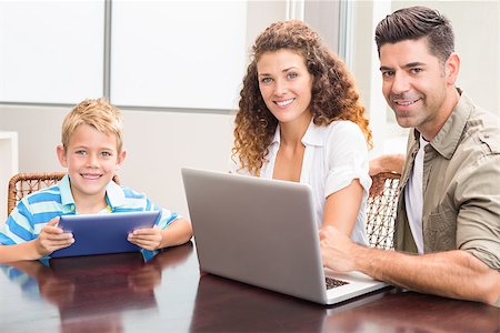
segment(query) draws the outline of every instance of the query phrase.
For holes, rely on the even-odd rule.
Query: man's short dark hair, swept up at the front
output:
[[[429,52],[443,63],[454,51],[453,29],[439,11],[426,7],[410,7],[394,11],[376,29],[377,50],[386,43],[427,38]]]

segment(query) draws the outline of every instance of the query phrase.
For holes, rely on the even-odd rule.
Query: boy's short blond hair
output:
[[[121,153],[123,148],[123,119],[121,111],[111,105],[107,99],[87,99],[66,115],[61,134],[64,151],[74,130],[83,123],[104,134],[114,134],[117,137],[117,151]]]

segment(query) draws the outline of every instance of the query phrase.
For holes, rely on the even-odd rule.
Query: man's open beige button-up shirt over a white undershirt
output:
[[[414,253],[403,188],[419,137],[413,130],[409,138],[394,233],[396,249]],[[424,151],[423,252],[460,249],[500,270],[500,120],[462,94]]]

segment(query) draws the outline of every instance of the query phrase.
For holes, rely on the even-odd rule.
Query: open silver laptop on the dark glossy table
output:
[[[320,304],[388,285],[360,272],[323,269],[309,185],[181,172],[203,271]]]

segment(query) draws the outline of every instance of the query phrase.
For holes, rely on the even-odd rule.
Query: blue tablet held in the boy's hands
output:
[[[51,258],[106,253],[137,252],[136,244],[127,241],[129,232],[151,228],[160,211],[88,215],[62,215],[58,226],[72,232],[74,243],[52,252]]]

